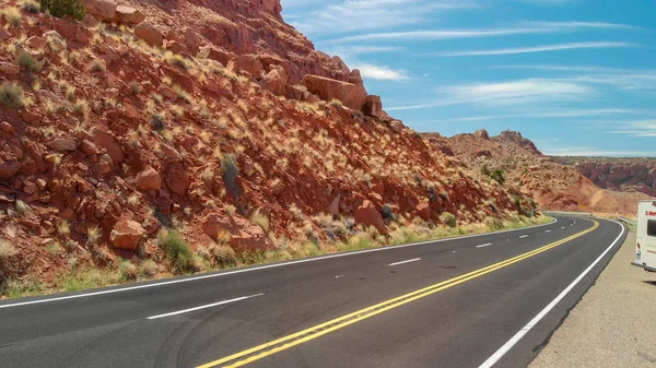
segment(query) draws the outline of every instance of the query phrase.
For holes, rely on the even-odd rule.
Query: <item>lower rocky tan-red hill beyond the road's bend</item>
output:
[[[585,170],[582,170],[584,175],[579,173],[579,166],[565,165],[560,158],[542,155],[519,132],[504,131],[490,136],[485,130],[479,130],[452,138],[437,133],[424,136],[442,153],[460,158],[483,178],[488,176],[481,171],[499,169],[508,190],[532,195],[543,209],[632,214],[636,202],[648,198],[635,191],[618,192],[597,186]],[[646,173],[648,170],[643,174]],[[637,182],[642,177],[635,175],[631,180]],[[645,180],[645,185],[648,182],[653,181]]]

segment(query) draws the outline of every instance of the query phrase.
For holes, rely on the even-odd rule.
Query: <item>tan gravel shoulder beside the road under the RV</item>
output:
[[[529,368],[656,367],[656,273],[631,265],[634,247],[631,232]]]

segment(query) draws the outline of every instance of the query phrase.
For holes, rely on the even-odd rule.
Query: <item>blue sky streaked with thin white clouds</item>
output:
[[[418,131],[520,131],[554,155],[656,156],[652,0],[282,0]]]

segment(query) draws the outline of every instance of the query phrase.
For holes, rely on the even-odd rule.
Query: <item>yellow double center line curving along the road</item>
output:
[[[312,327],[309,329],[305,329],[303,331],[298,331],[296,333],[293,333],[291,335],[286,335],[284,337],[280,337],[273,341],[270,341],[266,344],[261,344],[255,347],[251,347],[249,349],[233,354],[231,356],[226,356],[224,358],[214,360],[214,361],[210,361],[208,364],[204,364],[202,366],[199,366],[198,368],[209,368],[209,367],[216,367],[216,366],[224,366],[224,367],[242,367],[245,366],[249,363],[262,359],[269,355],[273,355],[276,353],[285,351],[290,347],[303,344],[305,342],[308,342],[311,340],[317,339],[319,336],[323,336],[327,333],[333,332],[336,330],[345,328],[347,325],[353,324],[355,322],[362,321],[364,319],[374,317],[376,314],[383,313],[384,311],[400,307],[402,305],[406,305],[408,302],[414,301],[417,299],[421,299],[423,297],[426,297],[431,294],[435,294],[437,292],[444,290],[446,288],[449,288],[452,286],[456,286],[458,284],[465,283],[467,281],[470,281],[472,278],[477,278],[480,277],[487,273],[490,273],[492,271],[496,271],[499,269],[503,269],[505,266],[508,266],[513,263],[517,263],[519,261],[523,261],[527,258],[534,257],[536,254],[539,254],[543,251],[547,251],[551,248],[558,247],[562,244],[565,244],[572,239],[578,238],[581,236],[584,236],[593,230],[595,230],[597,227],[599,227],[599,223],[597,223],[596,221],[593,221],[595,224],[594,226],[591,226],[590,228],[574,234],[567,238],[564,238],[562,240],[549,244],[547,246],[543,246],[541,248],[538,248],[536,250],[531,250],[529,252],[526,252],[524,254],[519,254],[517,257],[513,257],[511,259],[507,259],[505,261],[499,262],[499,263],[494,263],[491,264],[487,268],[483,269],[479,269],[477,271],[472,271],[469,273],[466,273],[464,275],[447,280],[447,281],[443,281],[441,283],[421,288],[419,290],[412,292],[412,293],[408,293],[405,295],[401,295],[399,297],[379,302],[377,305],[354,311],[352,313],[336,318],[333,320],[324,322],[321,324],[317,324],[315,327]]]

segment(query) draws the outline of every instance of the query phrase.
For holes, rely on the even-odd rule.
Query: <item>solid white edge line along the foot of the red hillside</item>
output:
[[[187,283],[187,282],[197,281],[197,280],[204,280],[204,278],[214,278],[214,277],[227,276],[227,275],[233,275],[233,274],[237,274],[237,273],[246,273],[246,272],[253,272],[253,271],[259,271],[259,270],[276,269],[276,268],[281,268],[281,266],[292,265],[292,264],[298,264],[298,263],[323,261],[323,260],[328,260],[328,259],[332,259],[332,258],[341,258],[341,257],[349,257],[349,256],[355,256],[355,254],[371,253],[371,252],[377,252],[377,251],[384,251],[384,250],[390,250],[390,249],[414,247],[414,246],[421,246],[421,245],[431,244],[431,242],[444,242],[444,241],[453,241],[453,240],[460,240],[460,239],[467,239],[467,238],[476,238],[476,237],[481,237],[481,236],[489,236],[489,235],[494,235],[494,234],[519,232],[519,230],[526,230],[526,229],[529,229],[529,228],[536,228],[536,227],[542,227],[542,226],[553,225],[553,224],[558,223],[558,218],[555,218],[555,217],[552,217],[552,218],[553,218],[553,222],[551,222],[549,224],[541,224],[541,225],[535,225],[535,226],[523,227],[523,228],[515,228],[515,229],[509,229],[509,230],[501,230],[501,232],[483,233],[483,234],[471,234],[471,235],[464,235],[464,236],[457,236],[457,237],[450,237],[450,238],[443,238],[443,239],[435,239],[435,240],[410,242],[410,244],[399,245],[399,246],[382,247],[382,248],[374,248],[374,249],[366,249],[366,250],[358,250],[358,251],[348,252],[348,253],[328,254],[328,256],[321,256],[321,257],[316,257],[316,258],[306,258],[306,259],[296,260],[296,261],[289,261],[289,262],[282,262],[282,263],[273,263],[273,264],[266,264],[266,265],[260,265],[260,266],[255,266],[255,268],[249,268],[249,269],[242,269],[242,270],[227,271],[227,272],[221,272],[221,273],[206,274],[206,275],[201,275],[201,276],[191,276],[191,277],[185,277],[185,278],[169,280],[169,281],[163,281],[163,282],[160,282],[160,283],[152,283],[152,284],[145,284],[145,285],[127,286],[127,287],[120,287],[120,288],[113,288],[113,289],[108,289],[108,290],[99,290],[99,292],[91,292],[91,293],[83,293],[83,294],[75,294],[75,295],[67,295],[67,296],[52,297],[52,298],[47,298],[47,299],[19,301],[19,302],[14,302],[14,304],[0,305],[0,309],[12,308],[12,307],[20,307],[20,306],[28,306],[28,305],[42,304],[42,302],[51,302],[51,301],[59,301],[59,300],[77,299],[77,298],[83,298],[83,297],[90,297],[90,296],[96,296],[96,295],[106,295],[106,294],[122,293],[122,292],[129,292],[129,290],[138,290],[138,289],[142,289],[142,288],[150,288],[150,287],[156,287],[156,286],[164,286],[164,285]]]

